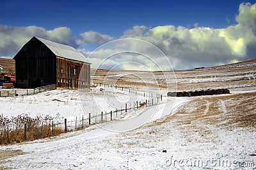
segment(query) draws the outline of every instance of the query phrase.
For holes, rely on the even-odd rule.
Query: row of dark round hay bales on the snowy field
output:
[[[199,91],[179,91],[179,92],[168,92],[168,97],[198,97],[202,95],[221,95],[230,94],[229,89],[207,89]]]

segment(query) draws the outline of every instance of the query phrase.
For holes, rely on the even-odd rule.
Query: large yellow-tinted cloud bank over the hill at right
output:
[[[256,4],[241,4],[236,20],[236,25],[222,29],[199,27],[198,24],[194,28],[134,26],[125,31],[121,38],[138,38],[153,43],[163,50],[176,69],[255,58]],[[132,48],[136,51],[144,47],[136,44]],[[159,62],[161,56],[154,56],[154,59]]]

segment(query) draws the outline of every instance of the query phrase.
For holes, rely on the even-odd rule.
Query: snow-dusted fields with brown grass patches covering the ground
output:
[[[122,78],[122,74],[124,71],[113,71],[109,79]],[[115,88],[106,88],[104,93],[97,87],[82,94],[54,90],[23,98],[0,98],[4,104],[1,114],[6,116],[15,116],[18,111],[31,116],[54,116],[59,112],[61,118],[74,119],[85,116],[86,109],[93,113],[98,109],[119,109],[121,105],[124,108],[125,103],[133,106],[118,119],[84,130],[0,146],[0,169],[255,169],[255,66],[207,72],[187,70],[175,75],[178,90],[229,85],[231,94],[173,98],[166,97],[168,90],[156,89],[155,84],[145,87],[138,83],[163,79],[163,75],[156,73],[153,80],[145,77],[138,81],[141,76],[134,81],[122,79],[125,87],[137,89],[140,95]],[[166,81],[175,82],[170,77]],[[93,78],[98,82],[104,79],[97,75]],[[150,100],[151,93],[163,95],[163,101],[134,108],[134,101]],[[86,103],[93,99],[92,105]]]

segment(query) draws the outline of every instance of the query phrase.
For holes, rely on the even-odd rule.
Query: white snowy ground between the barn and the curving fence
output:
[[[100,91],[100,88],[103,91]],[[17,93],[24,91],[16,89]],[[138,105],[149,102],[154,98],[157,102],[156,93],[144,93],[134,91],[133,89],[115,89],[110,86],[92,88],[90,91],[72,90],[72,89],[55,89],[44,91],[36,95],[19,95],[17,97],[0,97],[1,111],[4,117],[17,117],[19,114],[28,114],[29,117],[49,115],[53,121],[63,124],[67,119],[69,129],[74,128],[76,120],[84,118],[88,124],[88,114],[91,114],[92,122],[97,123],[101,120],[101,112],[104,112],[104,121],[110,120],[110,111],[113,111],[113,118],[119,118],[124,114],[125,104],[130,112]],[[160,99],[158,99],[160,102]],[[117,109],[117,117],[116,117]],[[122,109],[122,112],[120,111]],[[137,109],[136,109],[137,110]],[[138,113],[143,110],[137,111]],[[115,113],[114,113],[115,112]],[[129,113],[127,113],[129,114]],[[130,115],[130,114],[129,114]],[[124,115],[122,115],[124,117]],[[123,118],[124,119],[124,118]]]

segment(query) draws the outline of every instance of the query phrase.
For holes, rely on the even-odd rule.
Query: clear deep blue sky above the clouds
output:
[[[221,28],[236,22],[244,1],[2,1],[1,24],[70,27],[74,36],[97,31],[115,38],[133,26]]]

